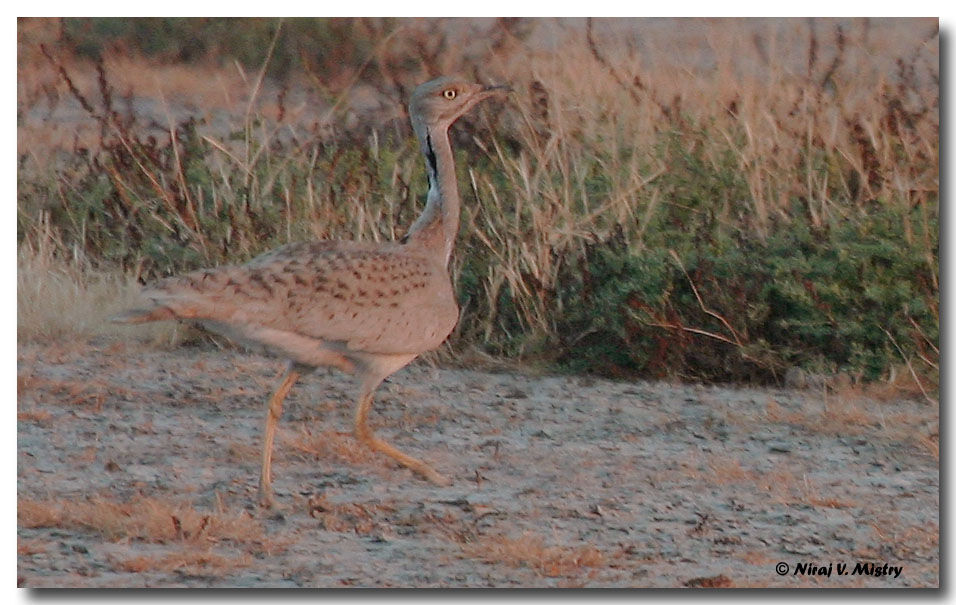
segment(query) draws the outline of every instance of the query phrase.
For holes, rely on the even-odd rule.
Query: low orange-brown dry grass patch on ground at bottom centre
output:
[[[463,545],[462,552],[485,563],[528,567],[546,577],[576,576],[605,565],[604,554],[593,546],[547,546],[541,536],[531,533],[517,539],[485,536]]]

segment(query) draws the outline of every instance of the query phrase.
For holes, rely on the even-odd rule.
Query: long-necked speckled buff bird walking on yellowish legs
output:
[[[258,501],[279,508],[272,450],[282,404],[318,367],[356,377],[355,437],[436,485],[444,475],[376,436],[368,425],[385,378],[438,348],[458,323],[448,271],[461,200],[450,126],[475,105],[511,88],[442,76],[414,89],[408,103],[428,177],[421,215],[397,241],[320,240],[286,244],[241,265],[169,277],[147,286],[148,301],[115,316],[124,324],[186,320],[288,361],[263,422]]]

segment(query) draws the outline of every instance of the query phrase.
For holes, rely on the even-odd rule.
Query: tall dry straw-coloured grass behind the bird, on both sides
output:
[[[474,129],[484,134],[469,141],[473,165],[462,167],[467,176],[461,188],[473,196],[474,204],[463,216],[462,239],[469,253],[453,259],[454,279],[461,279],[466,269],[476,270],[468,266],[469,259],[481,259],[480,274],[466,276],[475,283],[454,337],[465,350],[475,344],[507,343],[513,356],[536,350],[548,356],[553,347],[548,350],[542,343],[574,343],[586,335],[563,334],[556,325],[555,317],[567,302],[559,295],[562,271],[588,246],[606,242],[618,226],[626,227],[629,252],[639,254],[654,245],[653,235],[662,228],[655,221],[664,220],[661,217],[670,216],[665,210],[680,205],[673,199],[674,187],[662,184],[675,176],[672,166],[654,151],[668,133],[679,134],[681,150],[700,158],[705,164],[701,170],[722,171],[728,179],[742,175],[746,182],[746,191],[733,195],[701,192],[708,197],[706,207],[684,208],[690,215],[712,214],[716,223],[760,239],[804,215],[814,228],[823,228],[830,222],[864,220],[874,212],[868,206],[874,201],[904,208],[906,244],[925,256],[933,282],[926,287],[938,289],[938,255],[928,228],[935,218],[938,192],[936,21],[731,19],[694,25],[685,32],[649,23],[634,28],[596,21],[588,30],[580,22],[543,20],[539,27],[547,34],[544,42],[512,37],[507,44],[480,52],[474,46],[451,44],[423,57],[420,73],[394,71],[395,58],[407,59],[432,48],[433,24],[403,21],[401,36],[387,45],[379,41],[382,46],[369,60],[380,73],[370,79],[400,86],[380,87],[368,93],[372,99],[365,99],[381,106],[377,112],[361,114],[372,124],[366,130],[374,136],[360,141],[371,157],[381,151],[378,135],[386,130],[382,124],[399,112],[394,93],[407,92],[413,82],[438,71],[473,67],[482,79],[508,81],[516,89],[505,110],[474,118],[493,123]],[[38,42],[49,43],[54,34],[43,23],[31,21],[18,28],[18,35],[20,107],[48,103],[52,110],[76,105],[51,61],[36,50]],[[107,52],[103,64],[117,95],[130,91],[161,103],[176,97],[177,103],[196,108],[198,117],[216,109],[230,116],[219,131],[200,127],[200,138],[214,148],[203,156],[214,165],[211,184],[191,183],[182,166],[162,173],[141,165],[141,172],[148,174],[134,175],[136,170],[130,167],[123,173],[112,169],[108,175],[120,195],[129,198],[117,201],[119,205],[149,212],[157,206],[154,198],[159,198],[160,206],[165,202],[175,207],[172,212],[178,216],[172,217],[171,229],[202,249],[210,262],[222,261],[213,258],[221,247],[236,256],[259,251],[259,234],[250,236],[236,228],[228,246],[218,246],[196,227],[214,222],[210,217],[230,207],[230,200],[247,194],[253,204],[263,207],[263,200],[284,203],[281,225],[275,230],[288,237],[308,233],[319,238],[394,239],[408,224],[417,193],[410,185],[417,186],[415,179],[420,177],[420,161],[408,146],[389,149],[397,156],[383,170],[389,174],[371,175],[371,180],[368,175],[342,178],[316,171],[311,144],[293,146],[291,151],[284,148],[287,156],[270,156],[280,129],[323,143],[330,123],[354,130],[353,135],[364,133],[352,128],[356,109],[349,102],[356,99],[354,81],[326,91],[343,102],[324,121],[310,123],[311,116],[298,116],[300,121],[291,114],[280,117],[283,112],[275,109],[277,91],[260,87],[234,66],[217,71],[207,65],[158,65],[128,54]],[[95,66],[75,57],[58,56],[56,61],[71,74],[80,95],[98,98]],[[255,102],[250,104],[250,99]],[[30,157],[30,169],[42,172],[49,168],[51,147],[93,149],[104,124],[81,115],[76,124],[52,132],[54,126],[24,120],[18,129],[20,149]],[[223,129],[244,136],[228,137]],[[181,140],[171,146],[184,152]],[[723,159],[728,154],[733,158],[730,163]],[[494,171],[475,160],[493,162]],[[241,178],[237,181],[230,174]],[[147,193],[124,187],[137,176],[148,177]],[[688,188],[701,185],[694,174],[676,176],[686,177]],[[320,189],[328,180],[344,183],[337,198],[331,188]],[[303,181],[308,183],[304,190],[290,184]],[[66,199],[62,191],[60,197]],[[203,212],[209,216],[203,217]],[[197,216],[206,220],[197,221]],[[402,220],[396,221],[398,217]],[[42,232],[42,223],[28,231],[27,242],[42,239],[42,233],[33,233]],[[71,252],[62,244],[55,248],[58,258]],[[18,290],[24,293],[18,296],[20,307],[29,311],[18,312],[23,337],[95,333],[102,324],[98,311],[114,301],[122,306],[120,301],[129,300],[130,295],[124,294],[126,277],[93,272],[87,278],[91,269],[83,264],[80,273],[66,272],[64,277],[59,267],[47,270],[32,260],[35,252],[22,256],[24,283],[18,283]],[[31,263],[39,267],[34,270]],[[713,306],[703,291],[700,306],[711,308],[705,304]],[[929,301],[927,306],[929,316],[938,318],[938,305]],[[509,317],[500,317],[502,313]],[[730,343],[745,356],[754,348],[746,335],[739,337],[744,331],[733,321],[724,321],[720,333],[689,325],[674,329],[676,324],[666,322],[650,325],[670,330],[665,339],[675,342],[694,334]],[[759,335],[753,338],[756,342]],[[920,353],[925,360],[913,362],[925,361],[932,374],[938,350],[933,351],[932,338],[923,340],[928,342],[928,346],[919,343],[921,350],[926,349]],[[779,365],[774,355],[761,358],[761,363],[764,368]],[[932,393],[938,381],[930,377],[926,382]],[[836,420],[849,426],[853,417]]]

